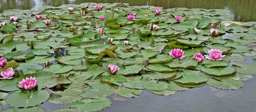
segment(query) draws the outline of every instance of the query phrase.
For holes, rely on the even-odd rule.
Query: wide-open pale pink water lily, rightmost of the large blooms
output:
[[[222,51],[219,49],[208,50],[208,53],[210,56],[206,56],[206,58],[211,60],[222,60],[222,57],[226,56],[226,55],[222,55]]]

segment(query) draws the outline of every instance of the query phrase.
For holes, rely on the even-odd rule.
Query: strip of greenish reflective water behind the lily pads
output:
[[[60,6],[61,4],[129,3],[130,6],[160,6],[165,9],[175,7],[202,9],[229,9],[234,12],[234,21],[256,21],[256,0],[0,0],[0,12],[7,9],[36,9],[40,6]]]

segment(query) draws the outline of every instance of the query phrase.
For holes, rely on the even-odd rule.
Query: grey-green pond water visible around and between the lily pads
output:
[[[153,5],[165,9],[174,7],[204,8],[204,9],[228,9],[232,11],[234,21],[256,21],[255,0],[1,0],[0,12],[7,9],[36,9],[40,6],[60,6],[61,4],[81,4],[84,2],[96,3],[129,3],[130,6]],[[228,33],[223,38],[229,38]],[[226,37],[225,37],[226,36]],[[255,47],[254,47],[255,49]],[[54,53],[55,58],[65,56],[68,51],[58,49]],[[29,50],[30,52],[30,50]],[[252,57],[246,57],[248,63],[256,65]],[[57,61],[55,63],[57,64]],[[229,63],[229,65],[234,62]],[[43,64],[42,64],[43,65]],[[112,105],[100,112],[256,112],[256,78],[242,81],[244,87],[237,90],[222,90],[205,85],[203,87],[190,88],[186,91],[178,91],[170,96],[156,95],[143,89],[142,94],[136,98],[121,97],[118,94],[108,96]],[[48,89],[51,92],[54,92]],[[39,105],[46,112],[57,109],[69,108],[67,104],[54,104],[49,102]],[[1,110],[10,108],[4,105]]]

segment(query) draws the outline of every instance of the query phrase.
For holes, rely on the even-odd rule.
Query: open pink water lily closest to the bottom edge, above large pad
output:
[[[19,82],[19,84],[21,85],[22,88],[26,90],[31,90],[32,88],[36,87],[37,80],[35,77],[33,78],[30,77],[30,78],[23,79],[21,82]]]

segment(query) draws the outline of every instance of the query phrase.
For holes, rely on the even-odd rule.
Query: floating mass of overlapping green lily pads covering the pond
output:
[[[146,89],[168,96],[206,84],[238,89],[241,80],[256,73],[255,65],[242,62],[244,56],[255,60],[256,22],[229,21],[230,11],[224,9],[128,5],[82,3],[4,11],[0,21],[7,25],[1,27],[0,56],[7,64],[15,63],[8,65],[15,75],[0,80],[0,107],[7,103],[11,108],[6,111],[43,111],[38,105],[49,100],[71,108],[58,111],[94,112],[111,106],[107,96],[112,94],[139,97]],[[135,18],[127,19],[130,13]],[[10,16],[18,18],[17,27]],[[182,19],[177,22],[175,16]],[[210,36],[210,28],[218,32]],[[168,53],[172,49],[182,49],[186,57],[175,59]],[[225,57],[200,63],[193,58],[196,53],[209,55],[210,49],[221,50]],[[119,71],[110,74],[109,65]],[[21,90],[18,82],[27,77],[35,77],[37,87]]]

